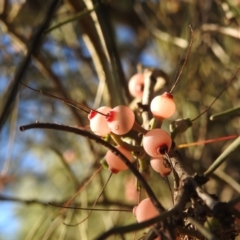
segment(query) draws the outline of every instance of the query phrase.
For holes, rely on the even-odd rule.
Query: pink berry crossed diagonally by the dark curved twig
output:
[[[123,154],[125,157],[132,162],[133,157],[131,152],[123,148],[122,146],[116,146],[116,148]],[[121,160],[119,156],[114,154],[112,151],[108,150],[105,156],[106,162],[108,163],[108,168],[112,173],[118,173],[119,171],[127,170],[127,165]]]

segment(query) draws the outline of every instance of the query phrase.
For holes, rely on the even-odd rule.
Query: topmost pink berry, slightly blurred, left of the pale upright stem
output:
[[[144,75],[137,73],[133,75],[128,82],[128,89],[133,97],[141,98],[144,88]]]

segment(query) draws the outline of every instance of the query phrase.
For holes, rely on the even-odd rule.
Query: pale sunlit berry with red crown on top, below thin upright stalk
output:
[[[153,98],[150,109],[155,118],[165,119],[171,117],[176,110],[172,94],[165,92]]]

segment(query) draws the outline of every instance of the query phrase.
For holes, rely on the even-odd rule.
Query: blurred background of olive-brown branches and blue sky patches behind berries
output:
[[[59,1],[48,27],[41,33],[29,64],[23,65],[51,1],[0,2],[0,239],[94,239],[113,226],[136,222],[135,179],[129,171],[114,175],[97,207],[89,211],[61,210],[77,192],[71,206],[91,207],[109,171],[100,170],[106,149],[71,133],[19,127],[36,121],[88,128],[87,114],[23,85],[10,97],[16,73],[23,83],[91,108],[136,104],[127,82],[137,65],[164,70],[165,90],[177,78],[194,31],[193,46],[173,91],[175,115],[194,119],[209,106],[240,65],[240,1],[238,0],[122,0],[101,8],[98,1]],[[89,12],[88,10],[97,10]],[[63,23],[60,25],[60,23]],[[36,39],[35,39],[36,40]],[[240,105],[240,76],[216,103],[176,139],[184,144],[239,135],[239,114],[210,121],[209,117]],[[6,105],[7,99],[11,104]],[[180,149],[193,171],[203,173],[233,140]],[[171,180],[171,178],[170,178]],[[165,179],[149,170],[148,181],[166,208],[171,207]],[[215,172],[206,189],[221,201],[240,193],[238,151]],[[83,188],[84,184],[89,184]],[[144,193],[143,193],[144,196]],[[142,236],[139,231],[135,239]],[[115,239],[122,239],[115,237]],[[126,239],[134,239],[133,233]]]

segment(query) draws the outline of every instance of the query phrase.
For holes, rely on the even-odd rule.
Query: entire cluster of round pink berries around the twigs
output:
[[[137,98],[141,98],[144,91],[144,74],[136,74],[129,81],[129,91]],[[150,104],[151,112],[154,118],[163,120],[171,117],[176,109],[173,101],[173,96],[170,93],[163,93],[152,99]],[[88,115],[90,120],[91,130],[98,136],[105,136],[107,134],[125,135],[130,130],[136,130],[134,112],[127,106],[117,106],[113,109],[109,107],[100,107],[92,110]],[[139,129],[139,128],[138,128]],[[165,166],[165,156],[170,150],[172,139],[168,132],[161,128],[155,128],[141,132],[143,151],[147,153],[152,159],[150,164],[152,168],[159,172],[162,176],[167,176],[171,173],[171,168]],[[115,146],[121,153],[123,153],[129,161],[133,161],[133,154],[130,150],[121,145]],[[109,170],[113,173],[118,173],[127,169],[123,161],[110,150],[105,156]],[[138,222],[147,220],[158,215],[157,210],[152,205],[149,198],[142,200],[138,207],[134,208],[134,215]]]

